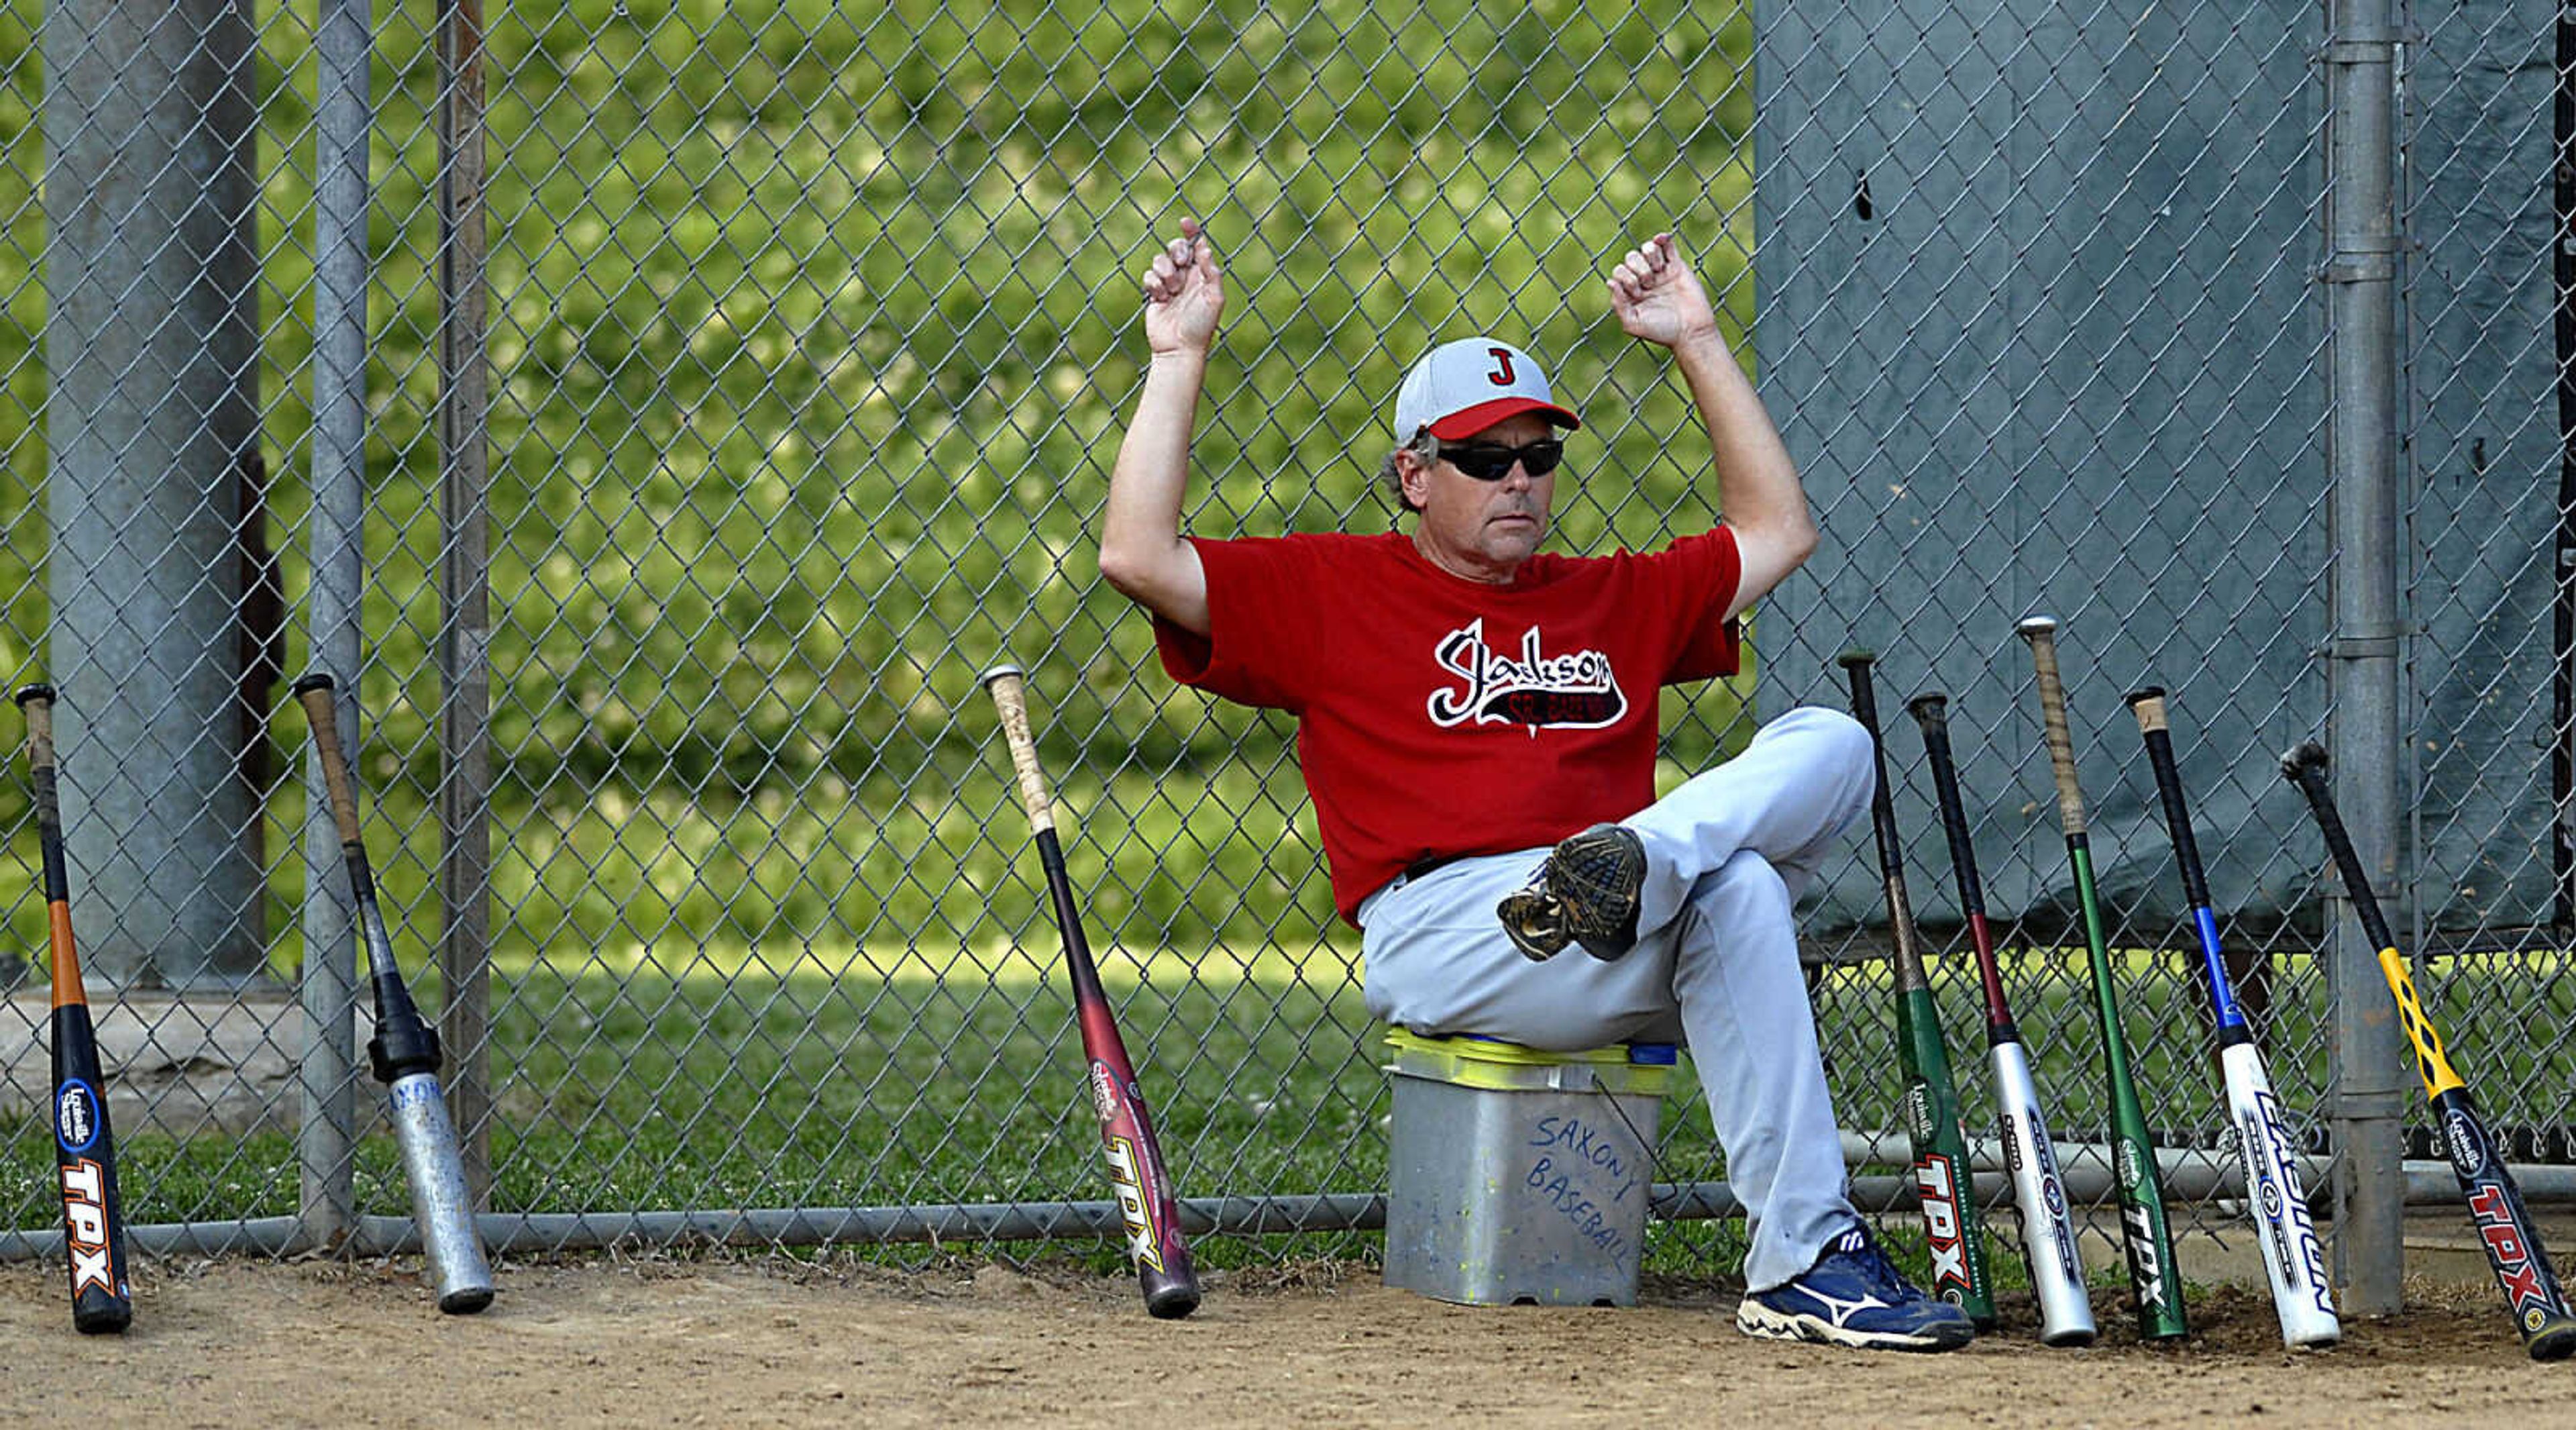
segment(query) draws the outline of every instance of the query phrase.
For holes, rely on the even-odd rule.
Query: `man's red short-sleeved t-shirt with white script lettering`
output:
[[[1736,672],[1736,539],[1535,554],[1453,577],[1412,536],[1203,541],[1206,639],[1154,621],[1162,667],[1298,716],[1332,902],[1419,858],[1510,853],[1654,801],[1656,688]]]

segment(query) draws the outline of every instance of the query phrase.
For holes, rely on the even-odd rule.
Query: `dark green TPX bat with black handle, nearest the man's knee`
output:
[[[1914,1190],[1922,1201],[1924,1239],[1932,1247],[1932,1291],[1968,1311],[1978,1330],[1994,1330],[1994,1281],[1986,1278],[1986,1229],[1976,1211],[1976,1177],[1968,1165],[1968,1131],[1958,1121],[1958,1085],[1950,1080],[1950,1051],[1940,1038],[1940,1010],[1906,899],[1906,850],[1896,843],[1896,801],[1888,799],[1888,755],[1878,737],[1878,693],[1870,685],[1873,657],[1844,652],[1839,665],[1852,683],[1852,716],[1870,732],[1870,763],[1878,783],[1870,791],[1870,830],[1878,835],[1878,873],[1888,897],[1888,938],[1896,940],[1896,1067],[1906,1080],[1906,1136],[1914,1147]]]

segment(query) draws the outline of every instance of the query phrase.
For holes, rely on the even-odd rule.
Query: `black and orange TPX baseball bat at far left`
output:
[[[62,1252],[72,1270],[72,1327],[85,1335],[134,1324],[126,1281],[126,1211],[116,1198],[116,1134],[108,1080],[98,1072],[90,995],[72,943],[72,876],[62,858],[62,794],[54,778],[54,688],[18,691],[26,763],[36,778],[36,845],[44,858],[44,920],[54,956],[54,1177],[62,1185]]]

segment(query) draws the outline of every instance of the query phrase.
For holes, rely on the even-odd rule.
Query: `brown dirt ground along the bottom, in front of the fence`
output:
[[[1188,1322],[1043,1265],[510,1263],[479,1317],[415,1270],[142,1263],[134,1330],[80,1337],[59,1268],[0,1268],[0,1425],[2576,1425],[2576,1366],[2524,1360],[2458,1281],[2326,1353],[2215,1288],[2182,1348],[2102,1304],[2099,1345],[2045,1350],[2025,1299],[1968,1350],[1857,1355],[1747,1340],[1716,1286],[1448,1306],[1342,1263],[1216,1273]]]

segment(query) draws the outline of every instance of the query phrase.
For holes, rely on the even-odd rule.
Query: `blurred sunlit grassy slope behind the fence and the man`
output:
[[[363,778],[386,899],[425,897],[438,786],[433,8],[379,8]],[[1291,727],[1175,693],[1092,569],[1141,374],[1133,273],[1182,211],[1229,263],[1203,533],[1383,528],[1383,407],[1435,338],[1525,335],[1589,402],[1564,544],[1710,520],[1669,363],[1605,317],[1674,227],[1749,322],[1749,26],[1556,0],[1494,21],[1231,0],[495,8],[492,752],[500,940],[989,938],[1015,848],[976,672],[1030,667],[1048,765],[1115,827],[1128,940],[1329,922]],[[1425,31],[1422,26],[1435,26]],[[268,541],[307,590],[312,0],[258,23]],[[1061,67],[1082,54],[1077,82]],[[0,18],[0,670],[44,662],[41,72]],[[1558,103],[1561,95],[1587,103]],[[307,665],[291,624],[289,670]],[[345,675],[345,672],[343,672]],[[1739,696],[1672,755],[1741,739]],[[301,721],[273,739],[294,755]],[[77,770],[75,776],[77,778]],[[294,791],[270,801],[270,848]],[[0,825],[21,827],[8,781]],[[987,835],[1002,819],[999,843]],[[1296,835],[1285,830],[1298,825]],[[616,827],[616,848],[603,830]],[[1084,855],[1077,850],[1079,858]],[[1180,858],[1229,891],[1193,897]],[[1195,873],[1195,871],[1193,871]],[[291,881],[291,871],[281,871]],[[739,894],[739,899],[737,899]],[[1280,894],[1280,897],[1273,897]],[[639,902],[641,899],[641,902]],[[719,907],[721,904],[721,907]],[[10,928],[36,928],[18,902]],[[273,920],[273,961],[301,958]]]

